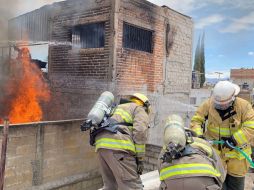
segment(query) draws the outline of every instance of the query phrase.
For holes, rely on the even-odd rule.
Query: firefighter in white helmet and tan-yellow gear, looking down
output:
[[[227,169],[224,190],[244,190],[249,163],[230,145],[251,155],[249,142],[254,136],[254,110],[249,102],[237,97],[239,92],[238,85],[219,81],[212,96],[200,105],[191,119],[190,127],[197,135],[226,142],[214,145]],[[206,126],[202,128],[203,124]]]

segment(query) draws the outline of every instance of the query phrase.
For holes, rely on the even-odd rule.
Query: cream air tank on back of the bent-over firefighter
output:
[[[164,146],[172,142],[176,145],[181,145],[182,149],[185,147],[186,136],[184,123],[179,115],[173,114],[166,119],[163,141]]]

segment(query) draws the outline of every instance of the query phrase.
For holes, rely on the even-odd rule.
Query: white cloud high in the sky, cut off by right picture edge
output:
[[[252,30],[254,26],[254,11],[239,19],[233,19],[233,22],[221,29],[222,33],[237,33],[243,30]]]

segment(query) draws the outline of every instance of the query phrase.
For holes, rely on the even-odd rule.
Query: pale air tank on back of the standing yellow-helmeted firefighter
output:
[[[103,92],[88,113],[87,119],[92,120],[93,124],[100,124],[113,102],[114,95],[109,91]]]

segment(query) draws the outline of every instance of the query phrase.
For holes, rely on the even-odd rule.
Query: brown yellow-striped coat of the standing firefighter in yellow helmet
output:
[[[147,141],[148,114],[142,106],[135,103],[120,104],[115,109],[113,119],[132,124],[132,126],[119,125],[121,132],[116,134],[103,131],[96,136],[95,149],[100,148],[122,150],[143,157]]]

